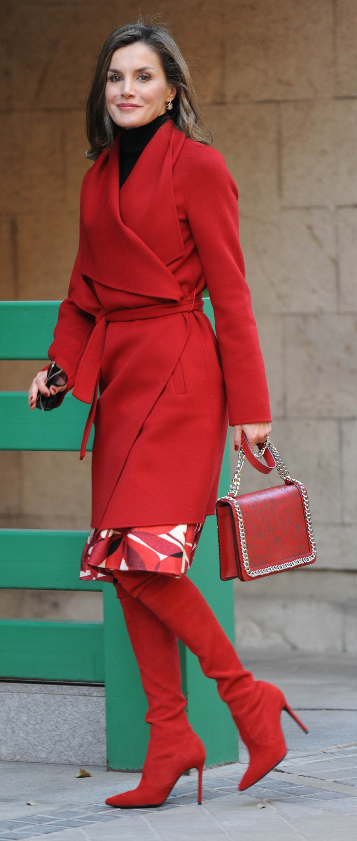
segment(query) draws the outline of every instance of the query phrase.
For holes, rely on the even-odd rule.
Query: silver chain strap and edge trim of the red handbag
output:
[[[265,452],[266,447],[269,448],[269,450],[271,452],[271,455],[275,459],[276,469],[277,469],[281,479],[283,479],[283,481],[286,482],[287,484],[297,484],[298,487],[300,488],[301,492],[302,492],[302,501],[303,501],[303,505],[304,505],[304,509],[305,509],[305,515],[306,515],[306,521],[307,521],[307,532],[308,532],[308,537],[309,537],[309,540],[310,540],[310,543],[311,543],[312,552],[310,553],[310,555],[307,556],[307,558],[294,558],[293,561],[286,561],[285,563],[272,564],[270,567],[266,567],[265,569],[256,569],[256,570],[250,569],[247,543],[246,543],[246,540],[245,540],[243,514],[242,514],[242,510],[240,508],[240,505],[239,505],[238,501],[235,499],[235,497],[238,495],[242,468],[243,468],[244,461],[245,461],[244,452],[243,452],[243,449],[241,448],[239,450],[237,468],[235,470],[234,477],[232,479],[232,482],[231,482],[229,490],[228,490],[228,496],[223,496],[223,500],[227,500],[228,502],[233,503],[233,505],[234,505],[234,508],[235,508],[235,511],[236,511],[236,514],[237,514],[238,526],[239,526],[240,546],[241,546],[241,550],[242,550],[242,558],[243,558],[244,569],[245,569],[245,572],[247,573],[247,575],[250,576],[250,578],[256,578],[257,576],[262,576],[262,575],[269,575],[270,572],[278,573],[278,572],[282,572],[284,569],[292,569],[293,567],[302,566],[302,564],[304,564],[304,563],[311,563],[312,560],[316,556],[316,545],[315,545],[315,541],[314,541],[314,538],[313,538],[313,532],[312,532],[312,521],[311,521],[310,507],[309,507],[308,499],[307,499],[307,490],[306,490],[305,486],[302,484],[302,482],[299,482],[297,479],[291,479],[291,476],[289,475],[289,473],[286,469],[286,466],[285,466],[284,462],[282,461],[276,447],[274,447],[274,444],[272,444],[272,442],[270,441],[269,438],[266,439],[264,449],[262,448],[260,450],[259,456],[257,455],[255,458],[261,458],[262,455]]]

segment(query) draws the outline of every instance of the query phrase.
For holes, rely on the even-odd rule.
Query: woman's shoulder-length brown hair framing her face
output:
[[[166,82],[176,87],[177,93],[170,114],[174,124],[186,137],[207,145],[212,143],[212,135],[198,112],[190,71],[176,42],[162,24],[155,24],[152,19],[139,18],[137,23],[121,26],[109,35],[98,58],[87,100],[86,120],[87,138],[90,143],[86,154],[93,161],[103,149],[113,146],[114,123],[108,114],[105,101],[107,74],[113,52],[137,41],[146,44],[160,56]]]

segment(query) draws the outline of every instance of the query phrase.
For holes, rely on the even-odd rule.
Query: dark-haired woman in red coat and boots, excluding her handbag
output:
[[[197,654],[249,748],[243,790],[286,754],[275,686],[244,671],[186,571],[214,513],[227,421],[240,447],[270,432],[264,363],[244,280],[237,188],[210,145],[175,42],[123,26],[102,48],[87,105],[95,161],[81,188],[80,246],[33,409],[66,391],[92,402],[92,532],[81,576],[112,581],[149,710],[139,787],[107,800],[157,806],[205,749],[186,718],[177,637]],[[120,192],[119,192],[120,191]],[[202,312],[213,304],[217,341]],[[97,400],[97,389],[100,399]],[[228,415],[228,416],[227,416]],[[292,712],[291,712],[292,714]]]

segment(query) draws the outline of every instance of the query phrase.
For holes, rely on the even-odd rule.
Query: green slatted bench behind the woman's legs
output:
[[[44,359],[52,341],[59,301],[0,303],[0,359]],[[212,307],[205,311],[213,320]],[[36,365],[34,364],[34,372]],[[29,411],[27,393],[0,393],[0,449],[79,451],[88,406],[66,395],[53,412]],[[92,437],[87,447],[92,449]],[[79,467],[80,468],[80,467]],[[229,479],[228,447],[222,493]],[[3,481],[6,493],[6,482]],[[8,680],[105,683],[108,768],[139,769],[149,727],[123,614],[113,586],[79,579],[87,532],[0,529],[0,586],[29,590],[102,590],[104,621],[0,620],[0,675]],[[215,518],[208,517],[192,567],[192,579],[234,639],[232,584],[218,577]],[[191,652],[181,645],[182,688],[192,727],[204,741],[207,764],[237,760],[237,732]],[[120,722],[123,727],[120,727]]]

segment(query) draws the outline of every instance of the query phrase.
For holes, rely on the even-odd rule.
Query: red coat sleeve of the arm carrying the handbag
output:
[[[202,145],[187,215],[213,305],[229,424],[270,421],[265,366],[239,243],[238,190],[223,156]]]

